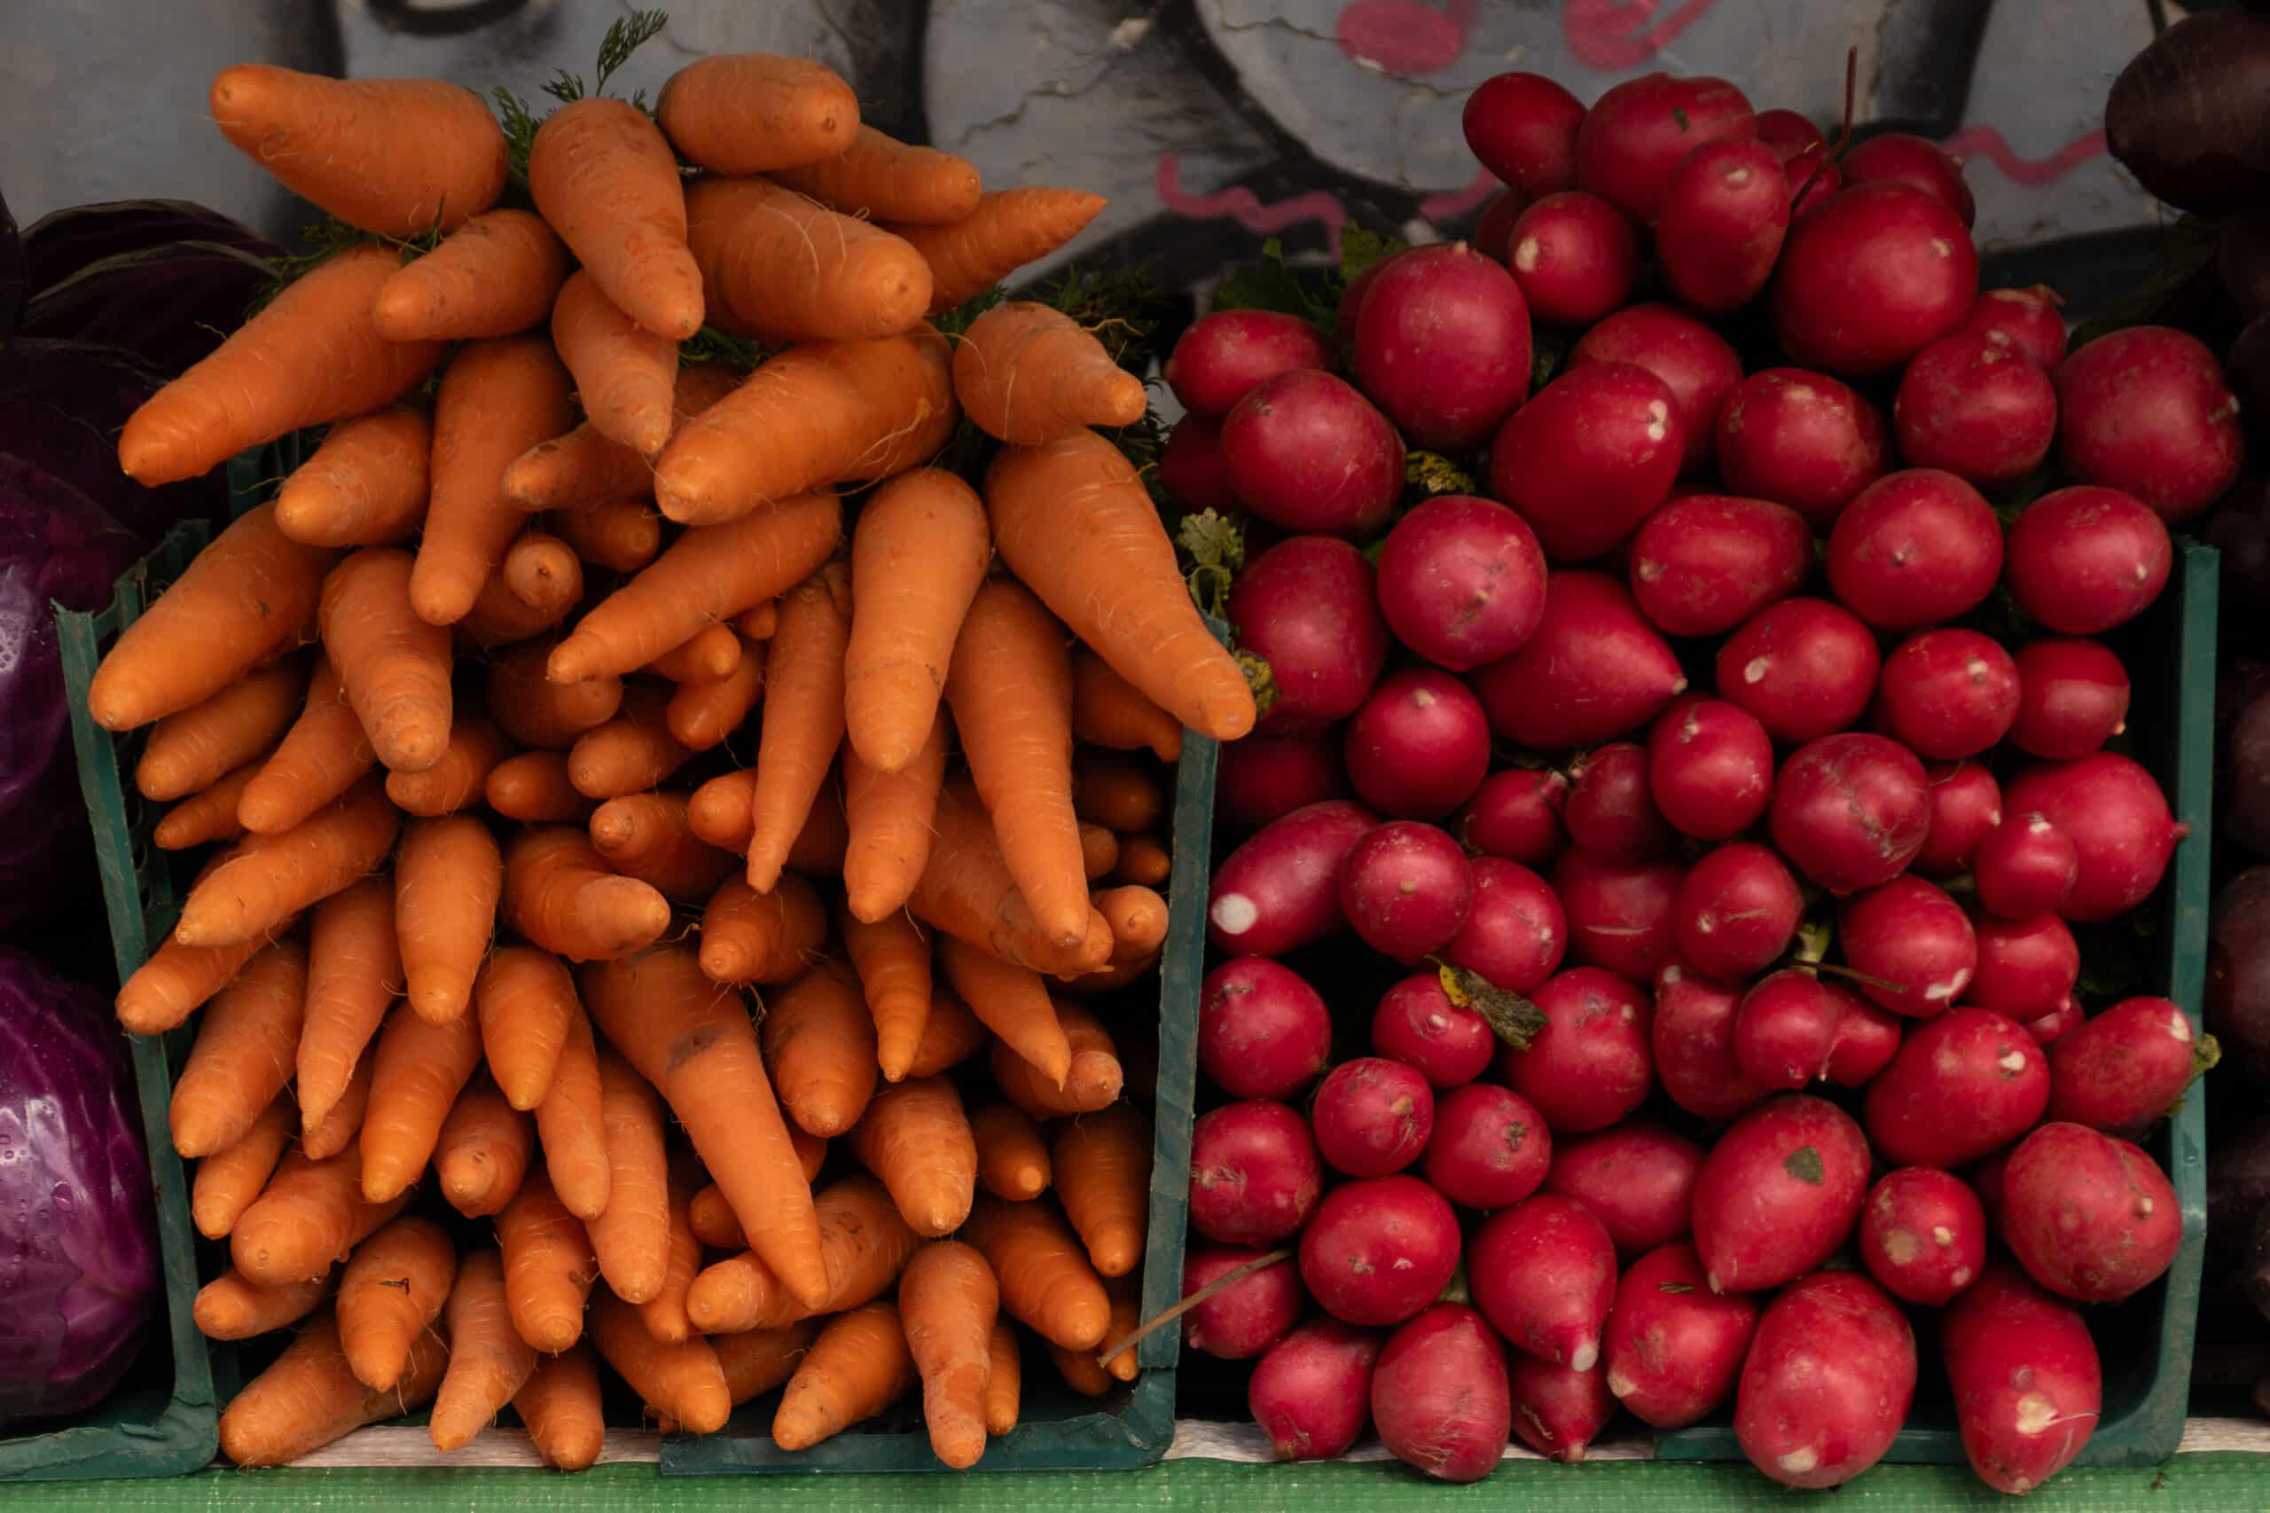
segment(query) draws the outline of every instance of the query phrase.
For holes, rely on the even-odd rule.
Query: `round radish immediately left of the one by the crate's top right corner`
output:
[[[1939,468],[1886,473],[1830,532],[1830,586],[1877,629],[1977,609],[2002,577],[2002,527],[1979,491]]]

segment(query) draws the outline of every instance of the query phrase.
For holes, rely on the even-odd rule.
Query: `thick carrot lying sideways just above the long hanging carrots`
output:
[[[890,477],[938,454],[958,416],[947,343],[926,325],[806,341],[679,427],[654,463],[654,502],[672,520],[717,525],[808,488]]]

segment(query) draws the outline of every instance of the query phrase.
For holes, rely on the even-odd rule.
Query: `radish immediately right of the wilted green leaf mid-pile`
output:
[[[1614,972],[1571,968],[1532,995],[1548,1025],[1498,1052],[1498,1077],[1555,1136],[1607,1129],[1648,1095],[1648,997]]]

